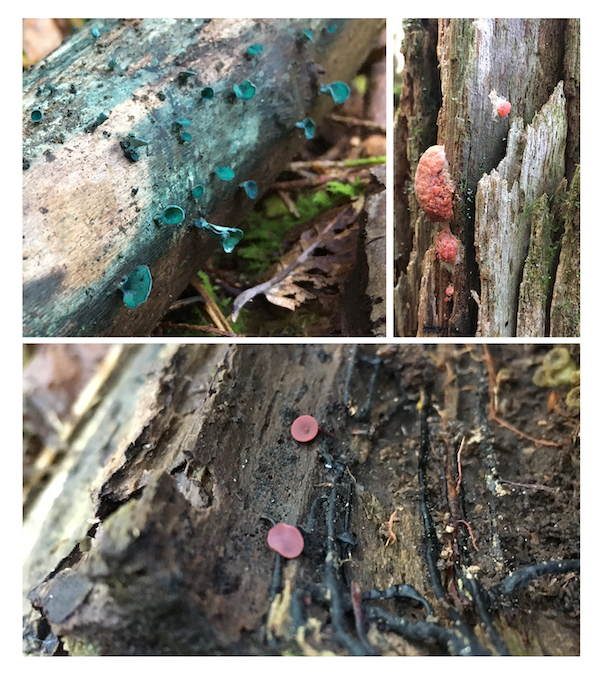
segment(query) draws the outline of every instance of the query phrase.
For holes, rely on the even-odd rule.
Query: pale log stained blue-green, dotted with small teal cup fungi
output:
[[[274,180],[305,142],[296,123],[318,123],[333,105],[319,86],[349,80],[384,26],[339,20],[328,32],[331,23],[94,21],[24,74],[24,335],[153,329],[214,249],[194,217],[238,225],[251,207],[239,184],[255,180],[262,193]],[[249,56],[256,43],[263,53]],[[251,100],[233,93],[244,80],[257,87]],[[202,98],[207,86],[212,99]],[[178,119],[190,122],[190,141]],[[149,143],[137,161],[121,147],[129,134]],[[234,180],[216,178],[218,166],[232,168]],[[205,192],[194,199],[197,184]],[[170,204],[185,211],[181,225],[161,224]],[[150,267],[152,292],[128,309],[118,286],[140,264]]]

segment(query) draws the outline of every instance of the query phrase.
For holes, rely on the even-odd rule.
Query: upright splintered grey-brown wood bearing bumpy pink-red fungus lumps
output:
[[[398,118],[400,127],[407,125],[410,129],[409,135],[402,135],[405,143],[398,149],[403,161],[397,160],[396,153],[396,164],[402,169],[402,173],[396,175],[400,188],[397,199],[403,204],[403,208],[396,206],[396,232],[399,232],[396,236],[400,238],[396,249],[404,256],[398,264],[395,289],[396,327],[400,335],[465,336],[478,331],[481,336],[507,337],[531,335],[529,331],[533,326],[537,331],[535,336],[550,334],[549,322],[541,321],[541,317],[551,313],[555,264],[549,265],[549,277],[542,293],[538,284],[521,286],[520,282],[528,249],[534,247],[530,240],[532,205],[543,193],[551,200],[562,178],[568,183],[572,181],[580,161],[579,30],[580,23],[576,19],[439,20],[437,56],[442,102],[435,109],[433,97],[421,99],[420,106],[414,110],[415,99],[402,95]],[[410,38],[408,31],[406,36]],[[408,50],[406,56],[410,54]],[[409,82],[412,73],[408,66],[406,70]],[[425,84],[430,86],[430,80],[425,80]],[[507,117],[493,114],[489,98],[493,90],[511,102]],[[558,91],[561,93],[554,95]],[[553,116],[549,115],[549,108]],[[464,259],[453,271],[435,259],[435,228],[418,207],[409,182],[419,155],[426,149],[421,147],[418,128],[415,124],[410,126],[410,120],[415,119],[415,112],[420,113],[425,123],[424,132],[435,110],[439,116],[434,142],[445,145],[456,186],[449,225],[464,246]],[[547,115],[545,120],[541,119]],[[541,129],[543,122],[546,129]],[[522,137],[518,140],[522,144],[527,134],[534,135],[531,125],[537,130],[537,138],[534,144],[529,139],[527,154],[522,147],[514,147],[516,139],[512,134],[519,129]],[[554,136],[561,141],[553,143]],[[502,194],[490,194],[487,204],[482,193],[488,178],[482,182],[481,179],[499,170],[501,162],[505,168],[509,155],[514,161],[509,175],[503,177],[507,189],[504,186]],[[527,158],[531,161],[525,166],[522,162]],[[411,167],[410,172],[406,171],[406,163]],[[510,193],[517,178],[514,172],[522,172],[518,185],[525,193],[529,185],[533,188],[531,194],[535,192],[532,198],[528,194],[520,198],[521,208],[505,201],[510,194],[515,194]],[[480,210],[489,210],[489,218],[481,216]],[[406,219],[409,219],[409,227]],[[485,224],[481,228],[477,223],[482,220]],[[556,220],[551,228],[551,246],[559,249],[563,223]],[[497,239],[499,230],[503,236]],[[487,247],[489,242],[492,245]],[[406,246],[410,248],[407,267]],[[536,248],[538,252],[538,246]],[[424,251],[427,250],[432,251],[432,260],[425,267]],[[498,257],[498,251],[503,255]],[[528,268],[532,265],[531,259]],[[494,268],[492,278],[490,268]],[[446,302],[445,294],[450,286],[453,294]],[[577,294],[571,298],[572,304],[577,301],[576,297]],[[419,302],[429,304],[416,311]],[[518,303],[527,306],[530,314],[521,313],[519,330]],[[416,316],[425,318],[426,322],[415,327]],[[577,328],[570,325],[569,330],[574,332],[568,332],[568,336],[578,335]]]

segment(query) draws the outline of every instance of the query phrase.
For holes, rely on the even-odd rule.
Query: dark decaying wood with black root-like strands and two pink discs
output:
[[[427,569],[417,481],[423,424],[430,427],[434,448],[428,460],[429,499],[445,543],[449,530],[442,520],[447,507],[439,460],[451,457],[456,434],[474,430],[462,459],[461,489],[478,548],[464,538],[461,554],[464,565],[471,565],[469,573],[479,570],[486,588],[514,565],[537,562],[538,556],[576,557],[575,442],[565,438],[561,447],[533,455],[522,452],[522,442],[511,432],[497,427],[491,433],[484,406],[476,404],[480,386],[473,386],[486,377],[480,355],[474,360],[467,350],[453,347],[389,345],[377,356],[375,349],[125,347],[121,376],[73,439],[70,466],[25,522],[27,533],[38,533],[24,575],[24,591],[35,608],[25,612],[26,651],[352,653],[358,643],[351,607],[337,607],[340,613],[329,616],[324,607],[330,598],[322,595],[336,588],[347,599],[350,580],[364,591],[410,584],[431,604],[438,623],[458,630],[447,601],[432,593]],[[495,351],[503,356],[498,367],[514,366],[520,387],[524,384],[520,396],[529,404],[532,396],[535,408],[545,392],[531,392],[526,383],[530,365],[547,349],[499,346]],[[366,360],[354,360],[359,350]],[[382,371],[373,380],[377,358],[383,359]],[[447,377],[440,376],[439,366]],[[431,387],[440,414],[431,410],[429,418],[426,408],[424,415],[419,410],[422,389]],[[374,394],[370,406],[369,391]],[[506,394],[498,390],[498,400],[505,402]],[[321,434],[310,443],[295,442],[291,423],[305,413],[334,438]],[[529,431],[540,429],[530,416],[520,419]],[[567,428],[556,414],[543,433],[561,440]],[[554,470],[547,476],[548,455],[554,457]],[[481,457],[497,463],[483,466]],[[510,490],[496,482],[539,474],[550,487]],[[327,502],[336,507],[332,518],[322,513]],[[283,589],[274,599],[275,557],[266,545],[269,525],[262,516],[301,526],[306,539],[301,558],[285,563]],[[333,585],[325,556],[329,527],[340,545],[349,546],[349,554],[334,561],[340,578]],[[521,532],[534,536],[523,538]],[[439,558],[436,564],[441,563]],[[545,593],[531,590],[518,596],[509,622],[499,612],[495,626],[513,653],[577,653],[574,577],[563,584],[556,581],[559,576],[544,582],[551,604]],[[303,610],[289,604],[292,586]],[[296,625],[302,611],[311,614],[307,627]],[[404,605],[401,612],[410,622],[429,623],[419,608]],[[489,648],[488,627],[471,613],[465,616]],[[376,626],[371,622],[368,631],[375,651],[439,653],[434,644]]]

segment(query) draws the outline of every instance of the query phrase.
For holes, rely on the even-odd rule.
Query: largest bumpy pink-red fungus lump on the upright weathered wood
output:
[[[445,158],[445,146],[433,145],[420,158],[414,177],[416,199],[436,223],[446,223],[453,214],[453,181]]]

